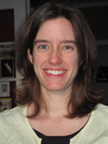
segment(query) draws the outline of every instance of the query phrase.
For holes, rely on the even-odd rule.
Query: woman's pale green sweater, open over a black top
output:
[[[26,115],[27,107],[0,113],[0,144],[41,144]],[[99,104],[70,144],[108,144],[108,107]]]

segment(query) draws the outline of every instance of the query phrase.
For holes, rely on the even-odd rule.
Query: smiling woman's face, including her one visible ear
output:
[[[65,18],[44,22],[28,49],[41,90],[71,91],[79,67],[79,54],[71,23]]]

